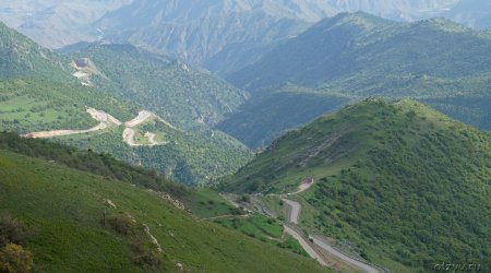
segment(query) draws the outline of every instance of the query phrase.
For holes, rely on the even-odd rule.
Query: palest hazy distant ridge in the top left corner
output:
[[[58,48],[100,38],[91,23],[129,2],[131,0],[2,1],[0,21],[45,47]]]

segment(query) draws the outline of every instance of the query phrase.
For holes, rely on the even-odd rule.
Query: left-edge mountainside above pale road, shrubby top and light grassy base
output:
[[[0,23],[2,129],[28,132],[88,128],[85,105],[129,119],[137,108],[95,88],[83,88],[72,75],[70,58],[53,54]]]

